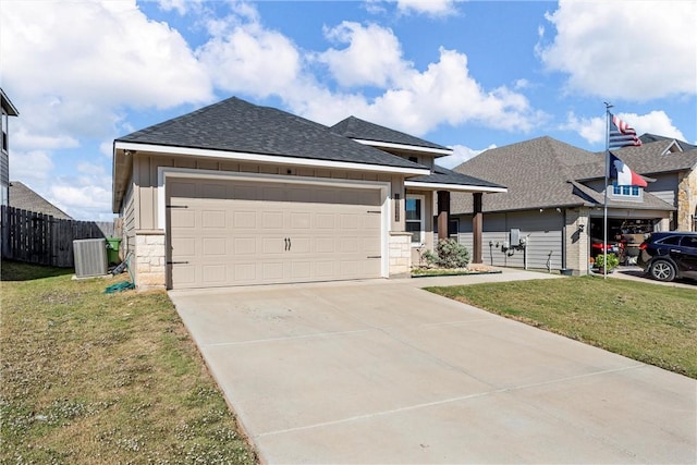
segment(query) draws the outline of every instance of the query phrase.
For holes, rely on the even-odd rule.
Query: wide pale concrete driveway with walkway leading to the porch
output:
[[[171,292],[266,463],[690,463],[697,382],[430,294]]]

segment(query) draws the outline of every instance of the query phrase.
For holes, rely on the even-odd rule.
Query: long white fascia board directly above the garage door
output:
[[[368,164],[368,163],[355,163],[351,161],[333,161],[333,160],[316,160],[311,158],[294,158],[283,157],[279,155],[262,155],[262,154],[247,154],[243,151],[224,151],[224,150],[210,150],[205,148],[191,148],[191,147],[170,147],[166,145],[154,144],[134,144],[117,142],[114,149],[117,150],[132,150],[132,151],[148,151],[155,154],[166,154],[172,156],[187,156],[187,157],[209,157],[209,158],[225,158],[229,160],[249,161],[258,163],[273,163],[273,164],[291,164],[302,167],[315,167],[315,168],[329,168],[337,170],[356,170],[356,171],[372,171],[381,173],[400,173],[400,174],[430,174],[428,168],[401,168],[401,167],[386,167],[382,164]]]

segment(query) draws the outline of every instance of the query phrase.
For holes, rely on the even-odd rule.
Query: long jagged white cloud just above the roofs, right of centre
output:
[[[467,57],[455,50],[441,48],[438,62],[423,72],[407,62],[403,62],[403,69],[401,74],[391,76],[394,84],[372,99],[317,91],[311,99],[294,101],[292,106],[298,113],[326,124],[354,114],[414,135],[443,123],[466,122],[525,132],[546,118],[522,94],[506,87],[484,89],[469,75]]]

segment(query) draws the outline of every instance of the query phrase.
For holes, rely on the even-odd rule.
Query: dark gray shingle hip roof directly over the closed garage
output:
[[[424,169],[409,160],[357,144],[329,127],[232,97],[136,131],[115,142],[241,151],[392,168]]]

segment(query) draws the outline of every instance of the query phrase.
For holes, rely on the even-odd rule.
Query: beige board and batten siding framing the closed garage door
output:
[[[158,218],[158,168],[188,168],[193,170],[220,171],[231,173],[255,173],[282,176],[321,178],[330,180],[350,181],[380,181],[390,182],[392,193],[403,193],[404,182],[401,175],[363,171],[331,170],[313,167],[274,166],[262,163],[246,163],[229,160],[211,160],[192,157],[171,157],[161,155],[137,154],[133,167],[133,201],[135,230],[157,229]],[[403,208],[402,199],[401,206]],[[392,218],[392,229],[404,231],[404,216],[400,220]],[[124,224],[125,229],[125,224]]]

